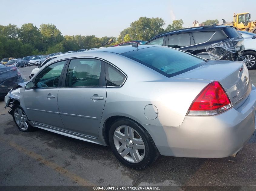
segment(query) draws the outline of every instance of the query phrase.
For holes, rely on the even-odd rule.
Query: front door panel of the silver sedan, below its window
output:
[[[59,88],[27,89],[24,92],[24,103],[28,119],[56,128],[63,128],[58,111]],[[48,95],[55,96],[47,98]]]

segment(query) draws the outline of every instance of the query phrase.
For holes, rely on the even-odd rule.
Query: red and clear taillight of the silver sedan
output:
[[[216,115],[231,107],[224,88],[218,81],[213,81],[191,103],[188,115]]]

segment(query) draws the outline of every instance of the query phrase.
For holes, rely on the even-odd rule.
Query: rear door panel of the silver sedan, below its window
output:
[[[93,100],[93,97],[101,100]],[[61,88],[58,93],[58,108],[65,129],[98,138],[105,101],[106,87]]]

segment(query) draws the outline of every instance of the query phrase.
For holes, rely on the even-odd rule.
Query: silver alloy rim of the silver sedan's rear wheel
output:
[[[145,144],[135,129],[130,126],[119,126],[115,129],[114,145],[118,153],[131,163],[138,163],[145,156]]]

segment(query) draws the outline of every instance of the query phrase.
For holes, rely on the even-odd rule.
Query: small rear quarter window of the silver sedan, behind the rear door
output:
[[[107,86],[121,86],[125,81],[125,75],[113,66],[105,65]]]

